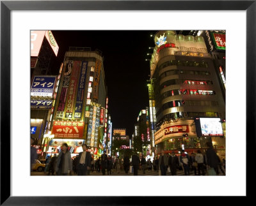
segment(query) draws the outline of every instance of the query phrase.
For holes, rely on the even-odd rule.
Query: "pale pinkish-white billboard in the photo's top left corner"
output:
[[[31,47],[30,47],[30,55],[31,57],[37,57],[40,48],[42,46],[43,40],[44,40],[45,31],[31,31],[30,32],[30,41],[31,41]]]

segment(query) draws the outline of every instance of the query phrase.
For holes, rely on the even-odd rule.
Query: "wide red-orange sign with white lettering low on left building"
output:
[[[54,138],[83,138],[84,122],[54,121]]]

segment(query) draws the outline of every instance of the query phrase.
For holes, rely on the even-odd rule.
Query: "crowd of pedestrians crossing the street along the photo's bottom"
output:
[[[86,144],[82,145],[83,152],[72,159],[67,143],[63,143],[58,156],[54,154],[53,157],[49,156],[45,159],[45,173],[47,175],[72,175],[72,173],[90,175],[90,173],[96,172],[102,173],[102,175],[112,175],[115,172],[124,171],[125,173],[130,172],[138,175],[138,170],[141,170],[143,174],[146,173],[146,170],[149,173],[154,170],[159,175],[166,175],[167,173],[177,175],[177,170],[183,170],[184,175],[189,175],[191,172],[194,172],[195,175],[219,175],[220,171],[225,175],[225,159],[221,160],[212,148],[211,143],[208,143],[207,146],[208,149],[205,154],[202,154],[200,150],[190,155],[182,151],[177,156],[175,152],[166,154],[161,151],[161,154],[151,161],[150,158],[146,160],[145,156],[139,158],[136,152],[132,154],[131,158],[129,156],[112,158],[104,151],[99,158],[94,158],[87,151]],[[31,156],[35,156],[33,149],[31,149]],[[31,157],[31,159],[33,158]]]

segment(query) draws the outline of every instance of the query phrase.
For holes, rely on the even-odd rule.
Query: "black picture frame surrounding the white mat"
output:
[[[255,149],[256,3],[253,1],[1,1],[1,205],[140,205],[140,197],[10,196],[10,12],[12,10],[246,10],[246,161]],[[2,61],[4,59],[4,61]],[[239,114],[237,114],[239,115]],[[245,121],[245,120],[241,120]],[[253,138],[250,138],[253,136]],[[250,141],[252,140],[252,143]],[[10,145],[10,147],[8,147]],[[253,154],[255,157],[255,154]],[[255,161],[255,158],[252,159]],[[250,168],[252,170],[252,168]],[[246,164],[246,196],[250,170]],[[255,176],[255,175],[254,175]],[[255,179],[255,178],[253,178]],[[251,183],[252,184],[252,183]],[[99,193],[104,195],[104,192]],[[140,194],[138,194],[140,195]],[[210,195],[210,194],[209,194]],[[211,198],[207,202],[211,201]],[[184,202],[183,202],[184,203]],[[217,203],[217,202],[216,202]]]

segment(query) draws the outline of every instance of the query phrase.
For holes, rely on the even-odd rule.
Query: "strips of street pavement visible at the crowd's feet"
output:
[[[31,172],[31,175],[47,175],[47,174],[45,174],[44,172]],[[77,175],[77,174],[75,174],[75,173],[72,173],[72,175]],[[93,176],[101,176],[102,175],[102,172],[100,171],[100,172],[96,172],[95,170],[92,172],[92,171],[90,171],[90,175],[93,175]],[[106,171],[106,174],[105,174],[106,176],[108,175],[108,172]],[[125,173],[124,172],[124,170],[118,170],[118,171],[116,171],[116,170],[112,170],[112,173],[111,173],[111,176],[129,176],[129,175],[131,175],[131,176],[133,176],[133,173]],[[140,176],[158,176],[159,175],[159,173],[157,172],[157,171],[154,171],[154,170],[152,170],[152,172],[149,172],[148,170],[146,170],[145,171],[145,174],[143,174],[143,172],[142,172],[142,170],[139,170],[138,171],[138,175],[140,175]],[[167,173],[166,175],[172,175],[171,173]],[[183,170],[177,170],[177,176],[184,176],[184,172],[183,172]],[[191,176],[195,176],[195,173],[194,173],[194,171],[190,171],[190,175]],[[51,176],[51,175],[50,175]],[[220,172],[220,176],[223,176],[223,173],[221,173]]]

